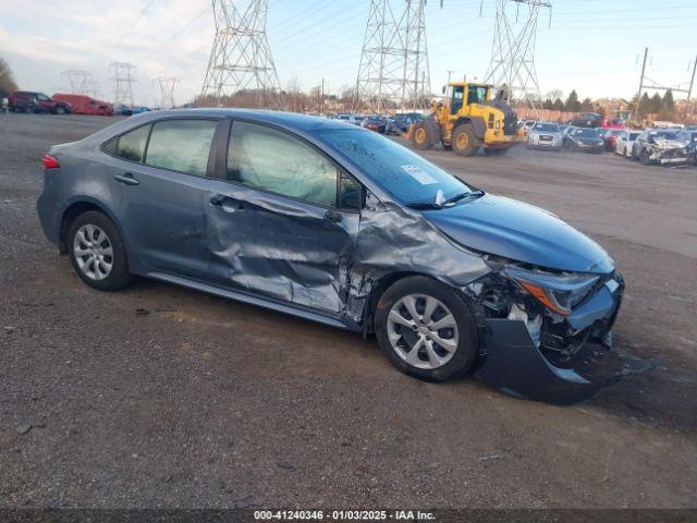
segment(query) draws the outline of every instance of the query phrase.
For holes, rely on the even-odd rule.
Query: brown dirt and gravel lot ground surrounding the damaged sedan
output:
[[[697,169],[426,154],[624,272],[615,340],[656,367],[557,408],[420,382],[375,342],[176,287],[88,289],[40,231],[39,160],[111,121],[0,114],[0,504],[697,506]]]

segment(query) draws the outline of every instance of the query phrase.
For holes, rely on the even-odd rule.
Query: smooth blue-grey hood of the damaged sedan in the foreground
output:
[[[610,272],[614,263],[596,242],[539,207],[486,194],[424,216],[455,242],[485,253],[557,270]]]

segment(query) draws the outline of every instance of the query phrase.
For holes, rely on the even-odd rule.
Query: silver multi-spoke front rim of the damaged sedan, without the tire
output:
[[[388,315],[388,338],[396,354],[409,365],[433,369],[445,365],[457,350],[457,323],[439,300],[407,294]]]

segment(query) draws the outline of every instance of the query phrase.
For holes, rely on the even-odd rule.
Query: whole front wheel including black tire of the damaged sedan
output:
[[[432,307],[430,318],[424,318],[427,300]],[[421,315],[421,323],[408,315],[406,303],[412,303],[416,314]],[[391,313],[398,315],[399,321]],[[447,313],[454,324],[448,321]],[[430,330],[429,320],[430,325],[444,324],[438,330]],[[472,306],[453,289],[430,278],[415,276],[392,284],[378,302],[375,321],[380,350],[399,370],[415,378],[444,381],[469,370],[479,355],[479,335]]]

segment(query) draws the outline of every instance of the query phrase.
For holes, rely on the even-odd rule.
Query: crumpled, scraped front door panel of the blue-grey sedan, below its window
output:
[[[213,183],[206,205],[212,282],[339,315],[358,214]]]

